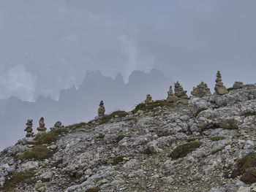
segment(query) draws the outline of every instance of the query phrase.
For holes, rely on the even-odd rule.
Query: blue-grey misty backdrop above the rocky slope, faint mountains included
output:
[[[0,1],[0,148],[24,136],[28,118],[34,129],[41,116],[48,128],[78,123],[97,115],[100,100],[108,112],[132,110],[147,93],[164,99],[176,80],[188,93],[201,81],[214,92],[217,70],[227,87],[256,82],[255,8],[254,0]]]

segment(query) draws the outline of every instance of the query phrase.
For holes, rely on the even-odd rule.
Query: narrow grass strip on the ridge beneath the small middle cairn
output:
[[[149,104],[144,104],[144,103],[140,103],[138,104],[134,110],[132,110],[132,113],[136,113],[138,112],[138,110],[143,110],[143,111],[153,111],[154,108],[156,107],[177,107],[178,104],[176,103],[172,103],[166,100],[156,100],[153,101]]]

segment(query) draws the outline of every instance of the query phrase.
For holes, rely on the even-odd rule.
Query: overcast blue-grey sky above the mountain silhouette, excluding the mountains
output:
[[[255,0],[1,0],[0,99],[58,99],[86,70],[162,69],[184,88],[256,82]]]

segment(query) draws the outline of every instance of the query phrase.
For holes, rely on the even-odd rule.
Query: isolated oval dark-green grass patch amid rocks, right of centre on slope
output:
[[[188,142],[184,145],[180,145],[176,147],[175,150],[173,150],[172,153],[170,153],[170,156],[173,159],[183,158],[188,153],[191,153],[193,150],[196,150],[197,147],[200,147],[203,144],[203,142],[194,141],[194,142]]]

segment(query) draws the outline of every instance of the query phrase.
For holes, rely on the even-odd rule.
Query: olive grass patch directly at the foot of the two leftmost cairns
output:
[[[49,131],[45,134],[37,134],[37,137],[35,138],[37,145],[42,144],[50,144],[52,142],[56,142],[60,137],[59,135],[64,133],[67,134],[67,128],[58,128],[52,131]]]

